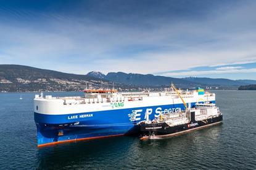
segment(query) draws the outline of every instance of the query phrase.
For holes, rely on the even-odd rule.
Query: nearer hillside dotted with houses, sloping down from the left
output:
[[[99,87],[108,82],[88,75],[0,64],[0,91],[77,91],[86,83]]]

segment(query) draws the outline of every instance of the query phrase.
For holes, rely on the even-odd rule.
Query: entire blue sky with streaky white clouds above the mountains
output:
[[[0,64],[256,80],[256,1],[2,1]]]

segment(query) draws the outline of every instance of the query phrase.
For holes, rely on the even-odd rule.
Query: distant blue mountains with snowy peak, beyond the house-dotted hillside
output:
[[[256,84],[256,80],[211,79],[207,77],[186,77],[178,79],[152,74],[127,74],[125,72],[109,72],[105,75],[101,72],[91,71],[86,75],[112,82],[155,87],[168,86],[171,82],[180,88],[211,86],[218,88],[237,88],[241,85]]]

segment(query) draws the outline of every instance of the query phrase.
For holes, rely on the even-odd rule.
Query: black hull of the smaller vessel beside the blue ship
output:
[[[191,114],[192,115],[192,114]],[[207,126],[217,125],[222,122],[222,114],[208,118],[206,120],[196,121],[192,116],[189,123],[177,126],[169,126],[167,123],[151,123],[139,125],[141,139],[157,139],[162,137],[175,136],[189,131],[206,128]]]

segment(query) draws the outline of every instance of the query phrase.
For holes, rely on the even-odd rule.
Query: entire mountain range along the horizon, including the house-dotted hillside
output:
[[[218,87],[238,88],[256,84],[256,80],[210,79],[186,77],[183,79],[152,74],[92,71],[88,74],[68,74],[48,69],[14,64],[0,64],[0,91],[78,91],[87,87],[138,90],[138,88],[165,88],[170,83],[178,88]]]

